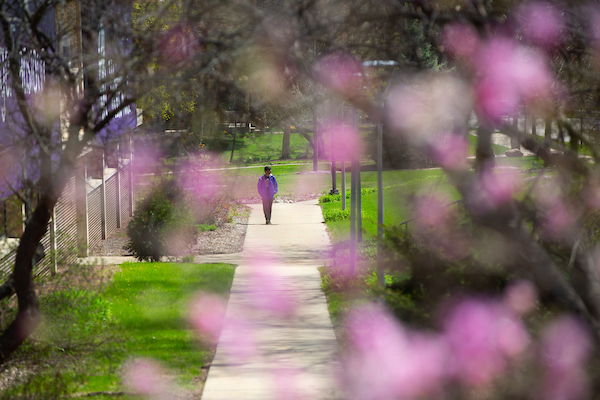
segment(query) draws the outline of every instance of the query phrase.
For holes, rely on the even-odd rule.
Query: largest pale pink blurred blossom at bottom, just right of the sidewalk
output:
[[[412,399],[439,393],[446,348],[438,336],[412,333],[376,306],[362,306],[348,318],[351,350],[343,381],[353,398]]]

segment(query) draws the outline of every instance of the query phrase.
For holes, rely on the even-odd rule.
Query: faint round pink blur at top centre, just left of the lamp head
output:
[[[360,89],[363,71],[360,63],[346,53],[330,53],[321,57],[315,67],[317,81],[341,93]]]

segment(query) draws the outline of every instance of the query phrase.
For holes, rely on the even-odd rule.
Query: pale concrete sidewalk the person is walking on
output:
[[[317,267],[331,252],[321,208],[316,201],[273,206],[273,224],[265,225],[261,205],[251,214],[227,305],[215,359],[208,373],[203,400],[337,399],[337,341],[329,319]],[[257,270],[268,268],[252,257],[270,259],[277,285],[259,285],[259,297],[281,291],[294,299],[295,313],[280,318],[255,308]],[[254,275],[253,275],[254,274]],[[270,276],[270,275],[269,275]],[[281,295],[282,293],[279,293]],[[249,321],[258,351],[239,355],[240,317]],[[228,357],[229,355],[229,357]]]

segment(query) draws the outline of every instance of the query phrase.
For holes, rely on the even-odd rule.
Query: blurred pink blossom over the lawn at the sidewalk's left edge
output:
[[[227,304],[217,295],[201,294],[189,306],[188,320],[196,333],[217,340],[223,326]]]

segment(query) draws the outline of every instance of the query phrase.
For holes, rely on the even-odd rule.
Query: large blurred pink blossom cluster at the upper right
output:
[[[443,44],[475,76],[474,98],[480,121],[492,126],[517,112],[521,104],[545,104],[557,93],[547,52],[560,46],[565,30],[562,12],[545,2],[522,6],[514,37],[507,32],[482,38],[464,23],[448,25]]]

